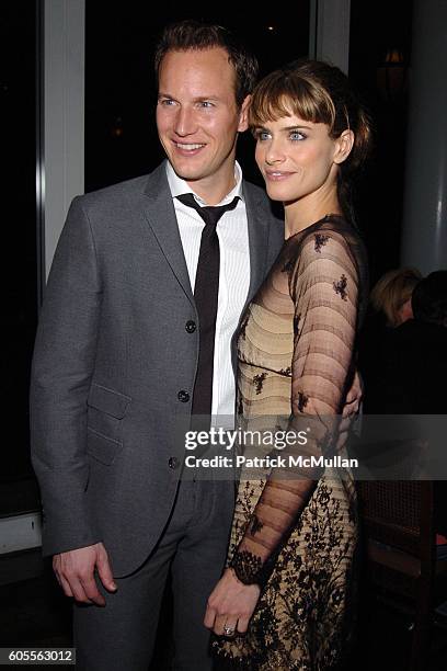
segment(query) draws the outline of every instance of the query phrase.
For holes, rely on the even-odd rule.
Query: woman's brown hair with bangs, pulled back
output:
[[[346,75],[322,60],[300,59],[264,77],[253,92],[250,126],[262,126],[290,114],[325,124],[333,139],[343,130],[353,130],[353,148],[340,164],[337,195],[344,214],[354,219],[347,178],[369,153],[373,132],[370,118],[351,89]]]

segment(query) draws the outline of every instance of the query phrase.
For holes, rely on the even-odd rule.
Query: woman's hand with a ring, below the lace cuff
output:
[[[244,634],[260,593],[259,584],[243,584],[232,569],[226,569],[208,599],[205,626],[218,636]]]

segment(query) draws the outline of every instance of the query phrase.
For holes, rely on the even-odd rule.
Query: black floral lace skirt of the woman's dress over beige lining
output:
[[[262,487],[245,484],[240,492],[244,513],[230,556]],[[248,635],[216,639],[218,656],[244,671],[323,671],[339,663],[351,637],[356,542],[354,485],[323,476],[276,559]]]

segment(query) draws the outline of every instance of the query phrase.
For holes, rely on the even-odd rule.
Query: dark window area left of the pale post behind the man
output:
[[[37,323],[35,29],[34,2],[0,3],[0,482],[31,473],[27,388]]]

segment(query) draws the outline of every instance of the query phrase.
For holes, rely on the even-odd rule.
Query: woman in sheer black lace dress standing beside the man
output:
[[[355,489],[347,467],[290,468],[288,457],[343,445],[367,284],[346,180],[370,128],[346,77],[318,61],[261,81],[250,121],[267,193],[285,206],[285,242],[239,334],[239,416],[249,430],[306,430],[308,442],[282,451],[286,466],[242,469],[228,568],[205,624],[225,668],[317,671],[340,662],[349,634]],[[265,455],[245,448],[254,454]]]

